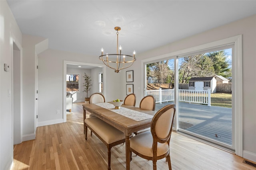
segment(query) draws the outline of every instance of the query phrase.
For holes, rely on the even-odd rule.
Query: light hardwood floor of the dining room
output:
[[[107,170],[107,148],[95,135],[84,139],[82,104],[73,105],[66,123],[38,127],[36,139],[14,145],[12,170]],[[90,133],[89,133],[90,134]],[[125,145],[111,149],[112,170],[125,170]],[[172,132],[172,170],[256,170],[243,158]],[[152,170],[152,161],[132,155],[131,170]],[[165,159],[158,170],[167,170]]]

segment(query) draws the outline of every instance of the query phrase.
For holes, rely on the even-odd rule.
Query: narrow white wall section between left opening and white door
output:
[[[22,35],[22,92],[23,92],[23,128],[22,141],[36,138],[35,119],[36,119],[36,45],[44,41],[43,37]]]

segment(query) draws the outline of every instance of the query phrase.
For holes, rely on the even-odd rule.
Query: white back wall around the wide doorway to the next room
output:
[[[98,57],[85,56],[66,51],[48,49],[40,53],[38,55],[38,98],[40,99],[38,100],[38,126],[62,123],[64,121],[63,115],[61,114],[63,113],[64,61],[103,64]],[[107,79],[105,98],[106,101],[110,101],[120,94],[121,90],[119,84],[113,84],[115,81],[118,82],[120,74],[107,68],[105,76]],[[90,94],[93,92],[94,89]],[[57,109],[60,110],[60,114],[56,114]]]

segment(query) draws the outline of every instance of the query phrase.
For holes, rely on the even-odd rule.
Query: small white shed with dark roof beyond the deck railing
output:
[[[217,81],[214,77],[192,77],[188,81],[189,90],[208,90],[211,89],[211,93],[216,93]]]

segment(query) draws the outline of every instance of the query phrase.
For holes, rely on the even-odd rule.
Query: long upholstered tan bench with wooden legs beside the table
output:
[[[98,117],[90,117],[84,119],[85,123],[85,140],[87,140],[87,127],[107,146],[108,148],[108,170],[111,170],[111,148],[125,143],[125,135],[123,132],[99,119]]]

